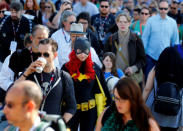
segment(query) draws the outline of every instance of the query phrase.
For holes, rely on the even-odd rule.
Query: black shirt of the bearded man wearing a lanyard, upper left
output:
[[[4,22],[4,24],[2,24]],[[16,49],[24,48],[24,37],[26,33],[31,33],[33,28],[33,23],[24,16],[21,17],[20,22],[13,22],[10,16],[4,17],[0,20],[0,61],[3,62],[4,59],[10,54],[11,41],[17,42]],[[14,27],[14,28],[13,28]],[[15,34],[14,34],[15,32]]]

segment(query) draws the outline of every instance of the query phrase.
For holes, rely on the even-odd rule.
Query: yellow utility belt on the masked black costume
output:
[[[77,110],[88,111],[96,106],[95,99],[91,99],[88,102],[77,104]]]

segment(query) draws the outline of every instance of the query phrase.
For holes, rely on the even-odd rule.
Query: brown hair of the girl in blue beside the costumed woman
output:
[[[112,61],[111,74],[114,75],[114,76],[116,76],[116,77],[118,77],[117,69],[116,69],[116,56],[115,56],[115,54],[112,53],[112,52],[106,52],[106,53],[103,55],[102,61],[103,61],[107,56],[109,56],[109,58],[110,58],[111,61]],[[103,65],[103,66],[102,66],[102,71],[105,71],[105,66],[104,66],[103,62],[102,62],[102,65]]]

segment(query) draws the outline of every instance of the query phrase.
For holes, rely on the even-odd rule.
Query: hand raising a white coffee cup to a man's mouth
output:
[[[35,61],[35,62],[32,62],[29,67],[26,69],[26,71],[24,72],[24,74],[26,76],[29,76],[30,74],[32,74],[33,72],[36,72],[36,67],[41,67],[44,65],[44,62],[42,61]]]

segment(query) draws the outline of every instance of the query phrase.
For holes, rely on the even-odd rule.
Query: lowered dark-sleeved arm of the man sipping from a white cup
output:
[[[74,84],[70,75],[67,72],[63,71],[61,76],[63,79],[62,85],[63,85],[63,91],[64,91],[63,101],[66,103],[63,118],[66,122],[68,122],[76,112]]]

